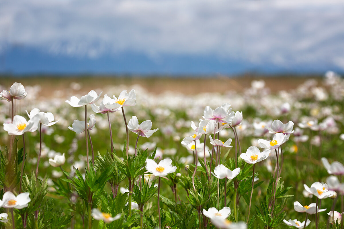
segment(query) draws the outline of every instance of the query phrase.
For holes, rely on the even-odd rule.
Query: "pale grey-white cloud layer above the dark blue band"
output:
[[[2,0],[0,52],[215,55],[286,67],[344,69],[340,0]]]

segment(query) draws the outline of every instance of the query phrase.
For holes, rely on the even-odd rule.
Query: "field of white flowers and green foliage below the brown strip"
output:
[[[2,228],[343,228],[334,72],[276,93],[81,87],[0,86]]]

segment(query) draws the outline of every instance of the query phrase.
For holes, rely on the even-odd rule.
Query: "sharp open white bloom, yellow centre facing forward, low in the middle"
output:
[[[146,169],[154,176],[166,176],[169,173],[174,173],[177,167],[172,166],[172,160],[169,158],[161,160],[159,164],[152,159],[147,159]]]

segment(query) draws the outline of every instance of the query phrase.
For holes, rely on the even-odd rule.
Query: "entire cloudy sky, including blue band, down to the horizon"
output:
[[[344,72],[343,0],[1,0],[0,73]]]

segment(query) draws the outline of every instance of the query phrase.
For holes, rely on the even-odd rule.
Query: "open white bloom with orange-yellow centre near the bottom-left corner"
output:
[[[4,208],[22,209],[29,206],[28,203],[31,201],[29,195],[28,192],[23,192],[16,197],[12,192],[8,191],[3,194],[0,206]]]

